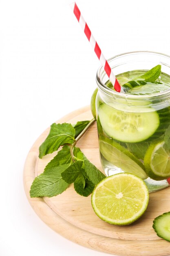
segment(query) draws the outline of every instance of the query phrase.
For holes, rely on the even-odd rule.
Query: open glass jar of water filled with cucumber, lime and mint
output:
[[[102,67],[98,70],[97,130],[104,171],[108,176],[136,174],[150,192],[163,189],[170,177],[170,57],[132,52],[109,64],[125,93],[115,92]]]

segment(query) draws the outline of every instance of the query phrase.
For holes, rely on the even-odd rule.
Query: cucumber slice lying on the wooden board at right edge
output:
[[[155,218],[152,227],[157,236],[170,242],[170,211]]]

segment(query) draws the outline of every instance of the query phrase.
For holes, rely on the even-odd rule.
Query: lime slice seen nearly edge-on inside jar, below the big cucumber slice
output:
[[[133,173],[143,180],[147,179],[144,164],[117,142],[104,138],[99,142],[99,149],[108,162],[121,168],[122,171]]]

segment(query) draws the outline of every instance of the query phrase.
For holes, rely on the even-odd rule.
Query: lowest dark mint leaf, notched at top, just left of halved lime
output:
[[[90,180],[85,180],[85,186],[82,177],[79,175],[74,182],[74,189],[79,195],[88,196],[92,193],[95,185]]]

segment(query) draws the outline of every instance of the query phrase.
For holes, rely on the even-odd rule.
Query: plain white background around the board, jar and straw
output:
[[[106,58],[170,55],[167,0],[77,0]],[[0,256],[105,256],[55,233],[35,214],[22,173],[34,141],[89,105],[99,61],[68,3],[0,0]],[[126,248],[125,254],[126,254]]]

